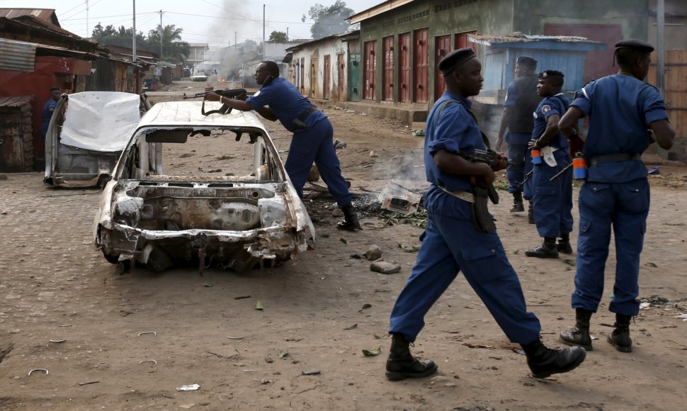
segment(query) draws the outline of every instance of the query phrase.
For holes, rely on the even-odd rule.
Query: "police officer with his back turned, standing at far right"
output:
[[[675,131],[659,91],[644,79],[654,47],[641,40],[615,44],[620,71],[586,84],[558,126],[572,135],[572,125],[589,116],[584,140],[586,182],[579,193],[577,272],[572,308],[576,324],[560,333],[562,342],[591,350],[589,321],[603,296],[603,275],[615,237],[615,284],[608,309],[615,313],[608,342],[632,351],[630,320],[639,313],[640,254],[649,213],[649,181],[642,152],[653,141],[668,150]]]

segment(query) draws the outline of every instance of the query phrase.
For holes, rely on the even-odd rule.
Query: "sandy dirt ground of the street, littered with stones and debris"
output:
[[[174,84],[186,87],[198,84]],[[347,144],[339,156],[353,191],[377,193],[390,180],[423,186],[422,137],[392,120],[322,108]],[[268,127],[288,150],[288,133]],[[216,150],[198,150],[183,164],[216,165]],[[396,383],[384,377],[388,317],[421,228],[393,224],[361,198],[365,230],[339,232],[333,202],[322,198],[307,203],[315,249],[275,269],[122,273],[93,248],[97,190],[53,190],[42,174],[7,174],[0,180],[0,410],[683,410],[687,322],[677,316],[687,313],[687,169],[658,167],[640,296],[667,300],[654,297],[632,325],[635,352],[605,341],[612,249],[606,298],[593,318],[594,351],[577,370],[528,376],[524,356],[458,276],[414,348],[439,373]],[[544,341],[557,345],[558,332],[573,323],[574,259],[525,257],[540,240],[501,193],[491,207],[499,234]],[[577,220],[577,206],[574,213]],[[375,273],[370,261],[351,257],[372,244],[399,261],[399,274]],[[379,356],[363,356],[377,347]],[[29,376],[35,368],[49,373]],[[194,383],[198,390],[176,390]]]

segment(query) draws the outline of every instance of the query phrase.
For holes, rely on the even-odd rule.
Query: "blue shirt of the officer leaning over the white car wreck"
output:
[[[296,131],[293,128],[293,119],[312,107],[310,100],[300,94],[298,89],[283,77],[277,77],[270,84],[262,86],[256,94],[246,99],[246,103],[249,103],[254,110],[270,106],[270,110],[277,116],[279,122],[292,132]],[[308,116],[305,123],[310,125],[325,117],[322,111],[317,111]]]

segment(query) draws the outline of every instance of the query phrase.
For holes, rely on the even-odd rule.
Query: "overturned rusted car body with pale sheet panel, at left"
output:
[[[62,94],[45,137],[43,182],[51,187],[102,186],[149,108],[147,98],[138,94]]]

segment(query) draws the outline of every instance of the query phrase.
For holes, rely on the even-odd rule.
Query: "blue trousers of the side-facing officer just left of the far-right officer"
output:
[[[546,163],[534,166],[534,220],[540,237],[560,237],[572,232],[572,168],[549,181],[572,160],[564,150],[554,152],[554,157],[555,167]]]

